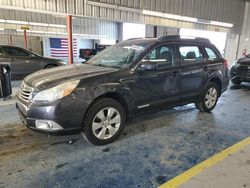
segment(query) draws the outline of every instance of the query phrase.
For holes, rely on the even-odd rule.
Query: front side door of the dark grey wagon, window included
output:
[[[180,74],[175,57],[175,46],[165,44],[155,47],[138,64],[133,79],[127,82],[136,108],[179,100]]]

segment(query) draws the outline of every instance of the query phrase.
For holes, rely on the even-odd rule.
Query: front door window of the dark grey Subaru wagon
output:
[[[155,63],[158,68],[172,67],[174,53],[171,45],[163,45],[153,49],[144,60]]]

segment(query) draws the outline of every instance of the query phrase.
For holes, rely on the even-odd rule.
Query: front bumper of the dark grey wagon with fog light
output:
[[[72,101],[70,97],[48,104],[25,103],[19,99],[16,108],[21,121],[28,128],[41,133],[58,135],[80,132],[85,110],[79,104],[76,100]],[[45,124],[41,126],[41,122]],[[46,128],[45,125],[54,128]]]

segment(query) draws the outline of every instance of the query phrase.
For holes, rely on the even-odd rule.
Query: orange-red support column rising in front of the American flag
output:
[[[68,63],[73,64],[73,36],[72,36],[72,16],[68,15],[67,19],[67,33],[68,33]]]

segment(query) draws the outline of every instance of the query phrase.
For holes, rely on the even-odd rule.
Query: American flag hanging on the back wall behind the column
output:
[[[50,38],[50,52],[52,57],[69,57],[68,39]],[[73,39],[73,55],[77,57],[77,41]]]

